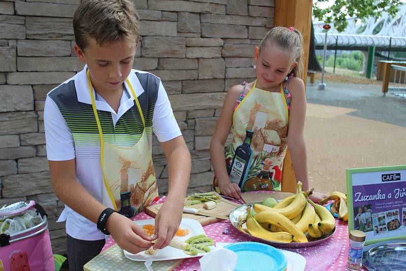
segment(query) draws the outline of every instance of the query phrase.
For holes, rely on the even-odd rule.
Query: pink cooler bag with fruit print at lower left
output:
[[[27,212],[28,211],[28,212]],[[33,212],[35,211],[35,212]],[[49,238],[48,220],[45,210],[35,201],[20,201],[12,205],[0,206],[0,223],[9,223],[9,229],[16,229],[15,223],[5,221],[5,217],[13,218],[13,220],[24,222],[27,216],[32,216],[39,224],[35,226],[6,234],[0,234],[0,271],[37,271],[46,270],[54,271],[55,264],[51,248],[51,240]],[[18,219],[15,219],[19,217]],[[25,225],[34,224],[34,222],[25,222]],[[0,229],[4,229],[4,225],[0,224]],[[17,228],[18,229],[18,228]],[[15,231],[15,230],[14,230]],[[3,232],[0,231],[0,232]]]

